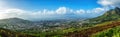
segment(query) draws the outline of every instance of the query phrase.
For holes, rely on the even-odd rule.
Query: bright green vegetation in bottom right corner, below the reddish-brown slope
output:
[[[93,34],[92,37],[120,37],[120,26]]]

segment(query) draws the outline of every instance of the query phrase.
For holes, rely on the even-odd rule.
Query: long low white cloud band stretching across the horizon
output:
[[[56,10],[47,10],[43,9],[40,11],[26,11],[22,9],[4,9],[0,10],[0,19],[4,18],[23,18],[23,19],[28,19],[28,20],[41,20],[41,19],[60,19],[60,18],[66,18],[65,16],[84,16],[86,14],[89,15],[94,15],[94,14],[99,14],[102,11],[104,11],[103,8],[95,8],[92,10],[73,10],[67,7],[59,7]]]

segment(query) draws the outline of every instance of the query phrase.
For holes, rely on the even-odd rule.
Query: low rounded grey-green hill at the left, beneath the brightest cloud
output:
[[[0,28],[11,29],[11,30],[21,30],[31,28],[33,22],[20,19],[20,18],[8,18],[0,20]]]

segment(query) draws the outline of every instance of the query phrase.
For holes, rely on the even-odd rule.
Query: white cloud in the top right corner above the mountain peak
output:
[[[120,0],[99,0],[98,3],[102,6],[120,7]]]

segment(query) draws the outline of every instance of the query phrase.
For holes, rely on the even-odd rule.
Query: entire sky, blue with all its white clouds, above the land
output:
[[[120,7],[120,0],[0,0],[0,19],[88,18]]]

